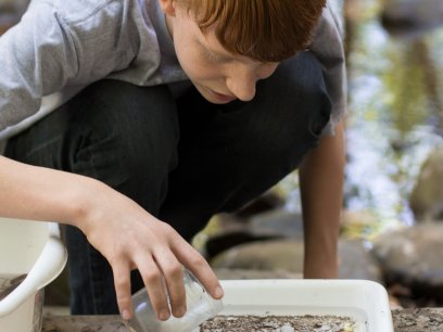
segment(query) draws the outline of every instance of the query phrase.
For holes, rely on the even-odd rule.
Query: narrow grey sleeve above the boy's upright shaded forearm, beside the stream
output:
[[[341,26],[330,3],[324,10],[314,31],[309,50],[321,64],[326,89],[332,104],[331,119],[322,133],[333,135],[334,125],[346,113],[347,82]]]

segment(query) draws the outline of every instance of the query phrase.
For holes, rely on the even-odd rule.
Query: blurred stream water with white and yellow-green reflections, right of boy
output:
[[[381,24],[381,1],[333,5],[343,16],[349,71],[344,207],[375,217],[371,232],[413,225],[410,191],[443,144],[443,28],[393,35]],[[298,190],[289,192],[298,209]]]

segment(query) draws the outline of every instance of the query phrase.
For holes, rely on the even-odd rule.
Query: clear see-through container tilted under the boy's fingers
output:
[[[187,312],[183,317],[170,316],[159,320],[152,309],[145,289],[132,295],[134,317],[126,322],[131,332],[190,332],[216,316],[223,309],[221,299],[214,299],[187,269],[183,270]]]

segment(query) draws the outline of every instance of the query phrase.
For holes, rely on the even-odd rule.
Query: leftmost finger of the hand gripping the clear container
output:
[[[118,310],[122,318],[128,320],[132,317],[132,302],[130,294],[130,270],[124,265],[113,266],[114,286],[117,296]]]

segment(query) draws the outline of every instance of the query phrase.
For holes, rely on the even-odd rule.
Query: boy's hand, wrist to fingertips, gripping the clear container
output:
[[[118,308],[124,319],[132,316],[132,269],[140,271],[153,309],[161,320],[166,320],[170,314],[181,317],[186,312],[183,266],[214,298],[223,296],[218,279],[207,261],[169,225],[102,183],[90,194],[90,204],[76,226],[111,264]],[[170,296],[172,312],[164,284]]]

